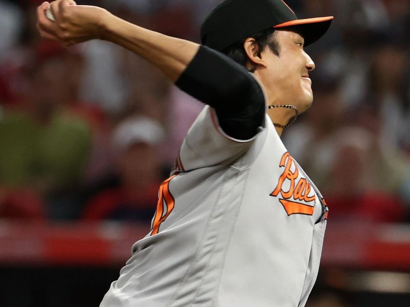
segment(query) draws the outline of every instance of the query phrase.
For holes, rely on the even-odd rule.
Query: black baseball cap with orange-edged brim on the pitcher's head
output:
[[[203,21],[201,41],[204,46],[222,51],[262,30],[297,26],[304,46],[309,46],[326,33],[332,19],[298,19],[283,0],[224,0]]]

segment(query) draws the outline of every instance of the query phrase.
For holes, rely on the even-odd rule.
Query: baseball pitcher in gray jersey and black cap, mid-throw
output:
[[[207,104],[159,187],[151,231],[100,306],[304,306],[327,206],[280,135],[312,103],[315,64],[303,48],[333,17],[297,19],[282,0],[225,0],[200,46],[71,0],[37,14],[44,38],[117,43]]]

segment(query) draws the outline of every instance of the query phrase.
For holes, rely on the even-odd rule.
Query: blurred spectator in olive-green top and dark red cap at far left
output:
[[[90,125],[70,109],[80,61],[73,50],[40,43],[25,68],[20,101],[0,119],[0,184],[44,195],[53,218],[75,214],[71,191],[91,146]]]

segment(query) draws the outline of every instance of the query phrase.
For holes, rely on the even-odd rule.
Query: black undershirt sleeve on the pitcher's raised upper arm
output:
[[[259,83],[217,51],[201,46],[175,85],[212,106],[222,130],[232,138],[251,139],[263,124],[265,101]]]

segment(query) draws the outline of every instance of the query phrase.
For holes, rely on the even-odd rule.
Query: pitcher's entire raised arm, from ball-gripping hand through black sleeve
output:
[[[49,9],[54,21],[46,16]],[[145,58],[183,91],[213,106],[222,128],[233,137],[255,135],[263,122],[264,97],[259,84],[219,52],[138,27],[99,7],[77,6],[72,0],[45,2],[37,8],[37,18],[37,28],[46,39],[71,46],[100,38]],[[239,130],[244,133],[236,136]]]

